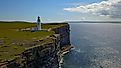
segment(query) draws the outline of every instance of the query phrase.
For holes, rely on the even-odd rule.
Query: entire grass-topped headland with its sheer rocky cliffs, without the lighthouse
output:
[[[71,49],[68,23],[42,24],[35,32],[35,24],[0,24],[9,26],[0,27],[0,68],[59,68],[62,53]]]

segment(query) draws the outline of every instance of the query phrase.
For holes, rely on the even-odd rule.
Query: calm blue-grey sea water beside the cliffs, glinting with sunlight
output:
[[[121,24],[70,25],[75,49],[65,56],[63,68],[121,68]]]

